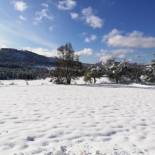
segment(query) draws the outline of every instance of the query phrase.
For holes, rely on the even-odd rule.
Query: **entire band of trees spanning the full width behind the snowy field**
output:
[[[0,80],[34,80],[51,77],[57,84],[71,84],[73,79],[84,77],[86,83],[96,83],[103,76],[114,83],[155,84],[155,61],[149,65],[117,62],[114,59],[106,63],[85,65],[79,61],[70,43],[60,46],[59,58],[54,69],[47,66],[26,66],[23,64],[0,63]]]

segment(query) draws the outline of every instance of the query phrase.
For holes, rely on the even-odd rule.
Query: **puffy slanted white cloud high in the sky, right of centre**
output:
[[[94,29],[102,28],[104,24],[104,21],[100,17],[94,15],[93,9],[91,7],[84,8],[82,10],[82,16],[85,22]]]

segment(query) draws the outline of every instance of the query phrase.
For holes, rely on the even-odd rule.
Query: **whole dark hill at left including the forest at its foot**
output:
[[[33,80],[50,76],[49,67],[56,58],[48,58],[26,50],[0,49],[0,80]]]

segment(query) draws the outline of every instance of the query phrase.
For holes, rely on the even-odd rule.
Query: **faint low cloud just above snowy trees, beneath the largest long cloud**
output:
[[[102,63],[106,63],[111,59],[125,59],[128,53],[133,52],[132,49],[116,49],[116,50],[105,50],[101,49],[100,53],[97,54],[99,57],[99,61]]]

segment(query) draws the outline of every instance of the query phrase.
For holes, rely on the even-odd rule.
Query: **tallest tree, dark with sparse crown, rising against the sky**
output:
[[[71,80],[80,74],[82,64],[79,62],[71,43],[60,46],[57,50],[59,59],[54,73],[56,83],[71,84]]]

